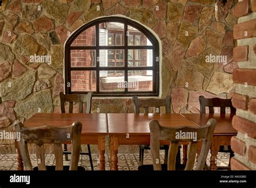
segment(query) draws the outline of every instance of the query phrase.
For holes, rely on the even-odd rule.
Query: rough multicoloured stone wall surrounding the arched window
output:
[[[198,96],[231,98],[234,83],[233,0],[11,0],[0,8],[0,127],[11,129],[37,112],[60,112],[64,43],[100,16],[124,15],[150,27],[161,40],[161,96],[172,112],[198,113]],[[51,55],[51,65],[30,62]],[[207,56],[208,55],[208,56]],[[226,64],[214,62],[225,55]],[[211,57],[206,63],[206,59]],[[133,113],[131,99],[93,99],[92,112]],[[1,141],[0,151],[14,152]],[[10,144],[10,145],[8,145]]]

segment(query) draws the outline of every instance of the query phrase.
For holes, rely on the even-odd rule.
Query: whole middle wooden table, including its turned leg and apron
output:
[[[149,122],[152,119],[158,120],[164,127],[198,127],[181,114],[107,114],[111,170],[118,170],[117,152],[120,144],[150,144]]]

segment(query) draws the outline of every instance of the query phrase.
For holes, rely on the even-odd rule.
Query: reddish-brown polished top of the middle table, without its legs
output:
[[[149,123],[156,119],[163,127],[198,127],[181,114],[107,114],[110,135],[150,135]]]

